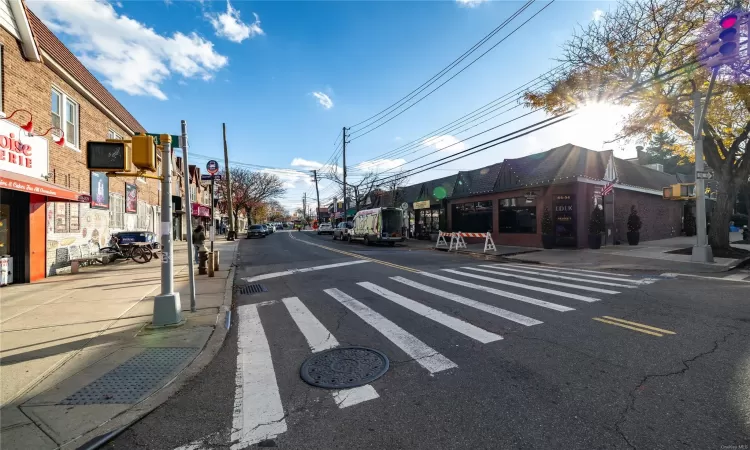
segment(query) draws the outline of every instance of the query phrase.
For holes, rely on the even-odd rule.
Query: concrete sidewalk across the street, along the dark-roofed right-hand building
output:
[[[730,242],[742,239],[740,233],[730,233]],[[742,259],[714,258],[710,264],[694,263],[690,255],[667,253],[695,245],[695,237],[674,237],[641,242],[639,245],[610,245],[599,250],[550,249],[541,247],[516,247],[498,245],[496,251],[484,252],[484,243],[470,243],[458,253],[479,258],[532,262],[570,268],[596,268],[611,270],[640,270],[655,272],[716,273],[725,272],[742,263]],[[435,248],[435,242],[409,240],[406,247]],[[750,250],[750,245],[732,244],[732,247]]]

